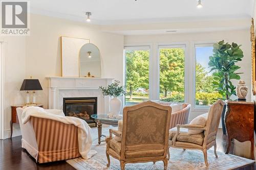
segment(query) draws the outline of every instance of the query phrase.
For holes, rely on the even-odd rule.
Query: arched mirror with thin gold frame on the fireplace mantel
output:
[[[101,77],[99,48],[92,43],[86,43],[80,49],[79,77]]]

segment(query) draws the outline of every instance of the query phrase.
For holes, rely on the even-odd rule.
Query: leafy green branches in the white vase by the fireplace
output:
[[[118,80],[115,80],[115,82],[108,85],[108,87],[100,86],[99,89],[102,90],[103,96],[110,96],[110,97],[117,98],[125,94],[124,86],[121,86],[120,81]]]

